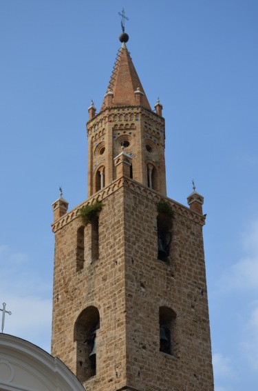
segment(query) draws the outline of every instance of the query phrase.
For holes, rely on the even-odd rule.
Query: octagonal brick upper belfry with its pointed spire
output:
[[[100,113],[93,102],[88,109],[88,197],[116,179],[121,148],[129,155],[131,179],[166,195],[162,105],[158,101],[155,113],[151,110],[128,39],[125,32],[120,35],[122,46]]]

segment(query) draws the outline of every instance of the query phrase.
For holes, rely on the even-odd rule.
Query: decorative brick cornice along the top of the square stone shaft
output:
[[[175,213],[181,214],[187,219],[193,220],[195,221],[195,223],[198,223],[200,225],[205,224],[205,217],[202,214],[199,214],[194,210],[190,210],[189,208],[182,205],[181,203],[173,201],[168,197],[164,197],[159,192],[155,192],[155,190],[151,190],[146,186],[142,185],[142,183],[136,182],[133,179],[127,177],[122,177],[120,179],[116,179],[116,181],[111,182],[109,186],[107,186],[103,190],[100,190],[92,197],[89,197],[89,199],[83,201],[83,203],[80,203],[80,205],[76,206],[76,208],[72,209],[70,212],[65,214],[60,219],[54,221],[54,223],[52,223],[52,231],[56,232],[59,229],[63,228],[63,226],[69,223],[70,221],[76,219],[78,217],[80,208],[83,208],[83,206],[92,205],[92,203],[94,203],[96,200],[105,201],[105,199],[109,197],[109,195],[118,191],[122,187],[129,188],[130,190],[133,190],[134,192],[141,194],[142,197],[146,197],[147,199],[150,199],[151,201],[154,201],[156,203],[158,203],[159,201],[167,201],[170,203]]]

